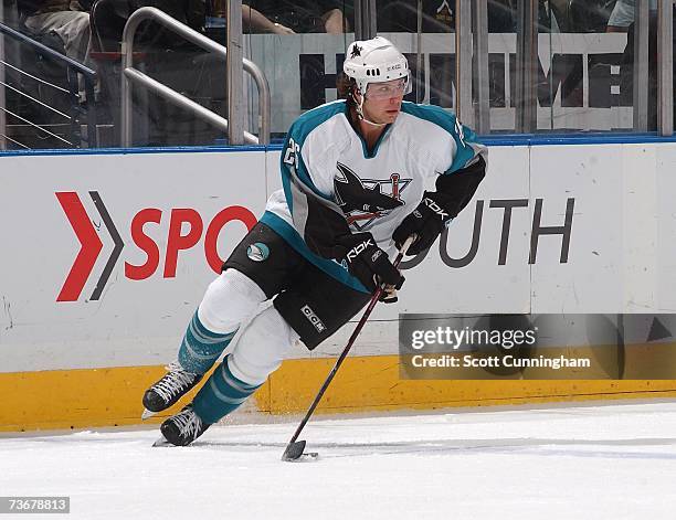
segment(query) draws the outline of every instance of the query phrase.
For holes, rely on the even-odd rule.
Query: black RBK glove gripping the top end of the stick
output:
[[[408,255],[415,256],[429,248],[444,230],[447,222],[453,219],[444,209],[446,198],[436,191],[425,191],[423,200],[392,233],[397,247],[401,250],[403,243],[411,235],[415,241],[409,247]]]

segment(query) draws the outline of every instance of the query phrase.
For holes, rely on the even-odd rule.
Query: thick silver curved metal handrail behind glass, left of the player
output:
[[[136,30],[140,22],[145,20],[152,20],[161,25],[165,25],[171,32],[178,34],[179,36],[184,38],[189,42],[207,50],[211,51],[214,54],[218,54],[222,57],[226,57],[228,51],[223,45],[218,44],[213,40],[200,34],[199,32],[190,29],[189,26],[182,24],[176,19],[171,18],[169,14],[160,11],[156,8],[145,7],[135,11],[127,23],[125,25],[125,30],[123,32],[123,44],[122,44],[122,54],[123,54],[123,74],[122,74],[122,146],[130,147],[131,146],[131,134],[133,134],[133,125],[131,125],[131,84],[138,83],[139,85],[145,86],[152,93],[163,97],[169,103],[184,108],[186,110],[191,112],[197,117],[210,123],[228,132],[228,119],[221,117],[212,110],[203,107],[199,103],[193,102],[192,99],[179,94],[167,85],[161,84],[160,82],[151,78],[150,76],[144,74],[142,72],[134,68],[133,66],[133,55],[134,55],[134,35],[136,34]],[[256,86],[258,88],[258,110],[260,110],[260,126],[258,126],[258,137],[250,134],[247,131],[244,132],[244,140],[249,144],[261,144],[267,145],[270,144],[270,126],[271,126],[271,108],[270,108],[270,86],[267,84],[267,79],[263,72],[250,60],[243,60],[244,71],[246,71],[256,82]]]

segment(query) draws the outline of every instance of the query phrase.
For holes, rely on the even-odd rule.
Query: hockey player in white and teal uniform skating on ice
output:
[[[213,365],[261,304],[232,351],[191,404],[162,423],[188,445],[235,410],[300,340],[314,349],[369,300],[378,284],[395,299],[404,278],[397,247],[429,248],[469,202],[486,169],[486,148],[447,112],[403,102],[406,59],[377,36],[349,45],[347,98],[302,115],[281,158],[283,190],[209,286],[178,360],[150,386],[150,412],[175,404]],[[425,191],[435,181],[435,189]]]

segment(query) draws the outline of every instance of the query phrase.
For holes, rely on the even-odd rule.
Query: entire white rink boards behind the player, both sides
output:
[[[437,243],[406,272],[400,304],[377,307],[355,354],[395,353],[400,312],[676,309],[676,145],[490,147],[489,153],[487,178],[453,223],[445,248],[455,259],[467,255],[476,208],[483,204],[472,262],[446,265]],[[260,216],[267,195],[278,187],[278,151],[247,151],[0,158],[0,372],[170,361],[215,276],[204,253],[210,223],[231,206]],[[57,192],[77,195],[103,244],[73,301],[56,301],[81,248]],[[114,242],[89,192],[99,195],[125,244],[97,300],[91,296]],[[536,262],[529,264],[537,200],[540,225],[562,226],[569,199],[574,199],[574,211],[567,262],[560,263],[558,234],[539,237]],[[517,204],[508,235],[505,201]],[[141,265],[147,259],[130,230],[142,210],[161,213],[159,224],[142,227],[157,244],[159,264],[147,278],[129,279],[125,263]],[[198,214],[203,230],[192,247],[178,252],[176,276],[167,277],[172,210]],[[245,230],[239,221],[224,224],[216,242],[221,258]],[[181,234],[188,232],[184,224]],[[341,350],[348,332],[338,332],[313,357]],[[302,347],[292,353],[308,355]]]

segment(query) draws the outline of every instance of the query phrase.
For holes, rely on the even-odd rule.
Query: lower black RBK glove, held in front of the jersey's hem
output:
[[[347,248],[344,262],[348,270],[367,289],[372,293],[378,284],[401,288],[404,277],[392,265],[387,253],[376,245],[371,233],[355,233],[344,236],[340,242]]]

